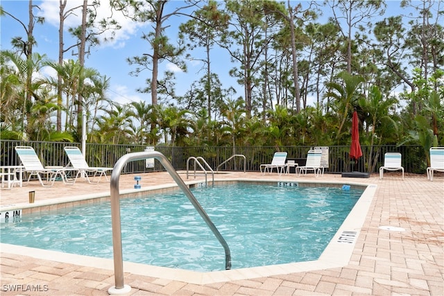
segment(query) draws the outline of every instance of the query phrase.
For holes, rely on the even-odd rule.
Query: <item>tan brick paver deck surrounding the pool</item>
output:
[[[376,184],[377,189],[364,226],[347,265],[340,268],[296,272],[213,284],[190,284],[164,278],[125,273],[130,295],[444,295],[444,177],[434,181],[425,175],[395,173],[368,179],[296,175],[232,173],[221,178],[254,178]],[[185,175],[182,175],[185,179]],[[203,177],[198,177],[202,179]],[[192,179],[192,177],[190,178]],[[198,180],[197,179],[197,180]],[[194,180],[194,179],[192,179]],[[186,180],[185,180],[186,181]],[[172,183],[167,173],[142,175],[142,187]],[[123,175],[120,190],[132,189],[133,175]],[[0,211],[10,204],[28,204],[28,191],[35,200],[69,198],[110,191],[110,184],[74,186],[58,184],[44,188],[31,182],[22,188],[1,189]],[[363,213],[364,215],[364,213]],[[402,227],[404,232],[379,229]],[[0,244],[1,245],[1,244]],[[38,259],[1,251],[1,295],[108,295],[114,270]]]

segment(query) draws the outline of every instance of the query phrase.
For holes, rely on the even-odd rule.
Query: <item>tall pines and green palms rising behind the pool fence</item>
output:
[[[0,53],[1,139],[80,141],[85,124],[88,141],[95,143],[347,145],[357,109],[363,144],[419,143],[425,153],[430,146],[444,146],[440,1],[402,1],[395,17],[384,17],[384,1],[113,3],[134,21],[153,23],[153,31],[142,36],[151,53],[141,49],[139,56],[128,57],[135,67],[132,75],[153,73],[139,88],[151,94],[151,102],[110,101],[109,78],[86,67],[87,60],[85,65],[72,59],[55,62],[33,53],[37,36],[26,30]],[[32,1],[30,7],[36,9]],[[30,19],[35,19],[33,9]],[[403,17],[407,9],[416,15]],[[318,21],[327,10],[332,17]],[[29,29],[3,9],[1,15]],[[182,19],[177,44],[164,31],[172,15]],[[372,24],[369,19],[377,15],[381,20]],[[80,44],[96,46],[96,39],[80,38],[83,27],[97,38],[104,24],[88,21],[69,30]],[[218,69],[210,67],[216,46],[229,52],[230,75],[244,88],[243,95],[234,91],[239,85],[223,88]],[[205,58],[194,57],[197,48]],[[158,73],[158,65],[174,62],[186,71],[185,61],[193,58],[204,62],[203,76],[177,96],[174,74]],[[57,76],[42,76],[42,67]],[[370,155],[368,168],[375,166]]]

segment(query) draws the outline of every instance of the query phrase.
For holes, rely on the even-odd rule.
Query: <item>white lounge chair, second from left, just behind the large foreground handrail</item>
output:
[[[99,183],[102,176],[105,176],[105,179],[108,182],[110,181],[108,180],[106,172],[112,171],[112,168],[88,166],[85,157],[83,157],[82,152],[77,147],[67,146],[65,147],[65,153],[67,153],[67,156],[69,158],[69,164],[71,164],[73,168],[76,168],[76,170],[78,170],[74,182],[76,182],[79,175],[85,177],[86,180],[91,184]],[[69,167],[69,164],[67,167]],[[89,179],[88,173],[93,173],[92,180]],[[96,182],[94,182],[95,177],[99,177]]]

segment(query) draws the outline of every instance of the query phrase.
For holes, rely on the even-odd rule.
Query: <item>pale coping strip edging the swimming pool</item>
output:
[[[218,183],[226,182],[295,182],[294,180],[257,180],[248,178],[239,179],[223,179],[214,180]],[[197,186],[196,184],[202,183],[202,181],[185,182],[188,186]],[[190,284],[212,284],[222,281],[232,281],[241,279],[251,279],[257,277],[269,277],[272,275],[282,275],[292,272],[307,272],[310,270],[324,270],[327,268],[343,267],[348,265],[350,257],[361,227],[364,225],[364,221],[370,209],[370,204],[373,202],[375,192],[377,189],[376,184],[363,184],[359,182],[323,182],[321,180],[316,181],[302,181],[297,182],[299,184],[309,184],[309,186],[326,186],[332,184],[336,187],[348,184],[351,186],[364,187],[364,192],[361,198],[356,202],[348,216],[343,221],[341,227],[325,247],[325,250],[316,261],[304,261],[296,263],[285,263],[278,265],[266,265],[253,268],[239,268],[233,270],[221,270],[214,272],[196,272],[191,270],[181,270],[174,268],[164,268],[154,265],[146,265],[141,263],[132,263],[128,261],[123,262],[123,271],[130,272],[135,275],[143,275],[148,277],[157,277],[162,279],[170,279],[176,281],[184,281]],[[176,184],[169,185],[157,185],[144,187],[137,190],[121,191],[120,194],[138,194],[146,193],[146,191],[163,190],[163,189],[175,189]],[[77,202],[82,200],[102,200],[106,198],[107,193],[96,193],[91,195],[81,195],[70,198],[58,198],[54,200],[46,200],[35,204],[9,204],[8,207],[1,207],[1,211],[13,210],[13,209],[33,209],[38,207],[51,207],[55,202],[59,204],[72,202],[76,205]],[[10,245],[6,243],[0,243],[1,252],[9,252],[12,254],[31,256],[36,259],[46,259],[51,261],[58,261],[62,263],[71,263],[76,265],[83,265],[94,268],[105,268],[108,270],[114,270],[113,259],[101,259],[92,256],[83,256],[77,254],[68,254],[56,251],[36,249],[33,247],[23,247],[19,245]]]

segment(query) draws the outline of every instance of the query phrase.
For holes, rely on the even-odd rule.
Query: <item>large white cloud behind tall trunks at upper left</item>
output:
[[[92,1],[89,0],[89,3],[91,2]],[[67,32],[68,28],[80,26],[82,21],[82,4],[83,1],[80,0],[67,1],[65,12],[71,9],[74,10],[65,19],[65,33]],[[38,16],[44,17],[46,24],[51,24],[52,26],[58,28],[60,23],[59,1],[43,0],[39,7],[40,12],[38,13]],[[96,22],[101,21],[102,19],[112,18],[121,26],[120,30],[114,31],[114,36],[112,36],[112,31],[106,31],[99,35],[99,40],[101,41],[101,46],[103,47],[112,46],[114,48],[123,48],[125,46],[126,40],[129,40],[131,37],[133,37],[133,35],[136,35],[139,28],[143,28],[149,25],[148,22],[140,23],[128,19],[127,17],[123,16],[121,12],[112,12],[109,1],[101,1],[100,6],[96,10],[96,13]],[[110,41],[111,37],[114,38],[112,41]],[[108,41],[105,42],[105,39],[108,39]]]

